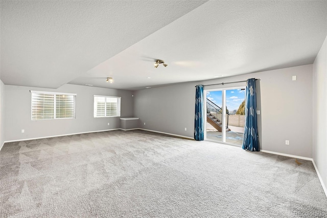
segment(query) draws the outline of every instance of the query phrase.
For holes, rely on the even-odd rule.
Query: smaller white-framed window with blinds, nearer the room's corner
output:
[[[121,97],[94,95],[94,117],[120,117]]]

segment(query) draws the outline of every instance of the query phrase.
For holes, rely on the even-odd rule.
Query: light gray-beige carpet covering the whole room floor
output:
[[[0,175],[0,217],[327,216],[311,161],[143,130],[6,143]]]

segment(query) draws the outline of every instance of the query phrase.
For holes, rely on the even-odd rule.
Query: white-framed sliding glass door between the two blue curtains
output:
[[[242,146],[245,87],[205,90],[205,140]]]

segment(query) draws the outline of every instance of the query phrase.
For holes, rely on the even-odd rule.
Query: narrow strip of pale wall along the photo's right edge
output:
[[[327,188],[327,37],[313,63],[312,156]]]

